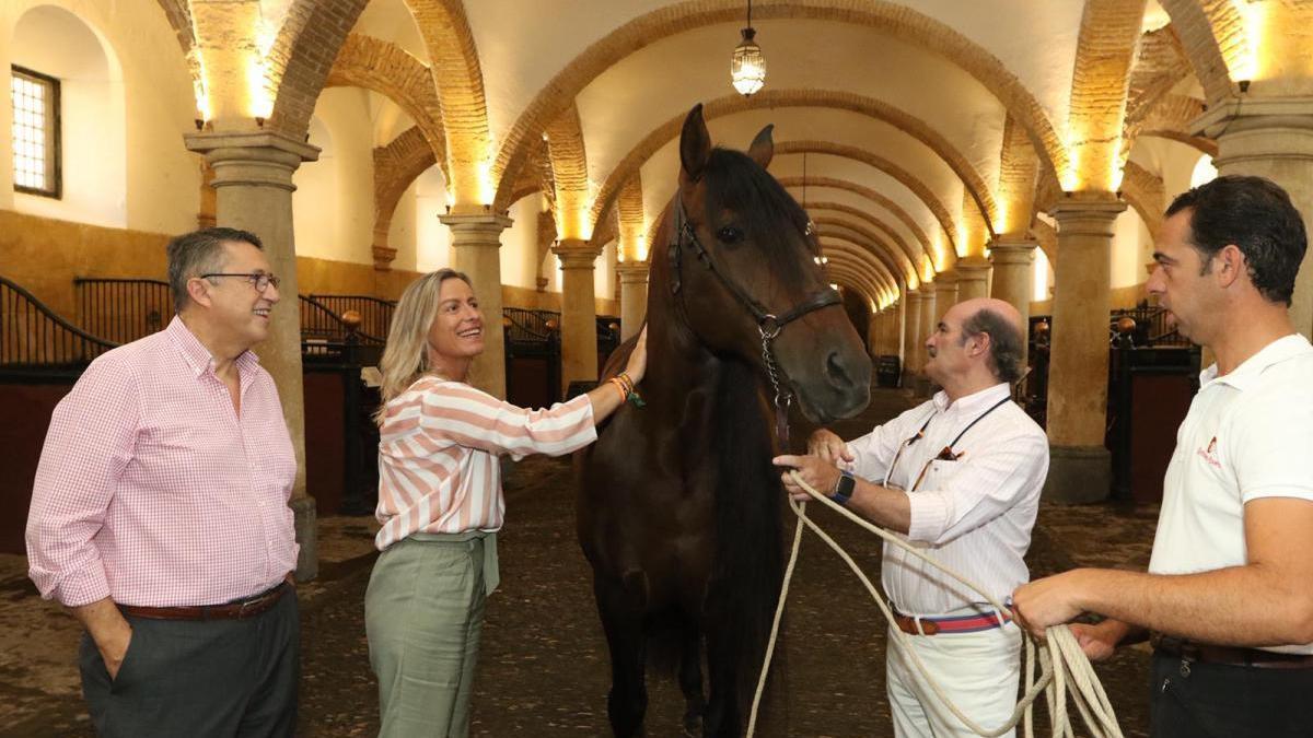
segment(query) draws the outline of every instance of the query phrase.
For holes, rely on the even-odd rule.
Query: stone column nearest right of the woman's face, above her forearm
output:
[[[597,380],[597,302],[593,264],[601,250],[565,239],[551,248],[561,260],[561,386]]]

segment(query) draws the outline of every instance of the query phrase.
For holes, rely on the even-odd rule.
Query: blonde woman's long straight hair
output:
[[[387,330],[387,345],[378,361],[383,382],[379,387],[382,402],[374,414],[374,422],[379,425],[383,423],[387,403],[404,393],[429,369],[428,330],[437,315],[439,295],[446,280],[461,280],[470,288],[474,286],[463,272],[439,269],[411,282],[397,303],[393,324]]]

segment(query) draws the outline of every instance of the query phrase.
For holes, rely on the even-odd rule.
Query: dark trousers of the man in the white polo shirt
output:
[[[1258,668],[1155,653],[1154,738],[1308,738],[1313,668]]]

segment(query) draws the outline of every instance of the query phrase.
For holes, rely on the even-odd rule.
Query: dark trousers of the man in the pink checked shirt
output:
[[[79,666],[102,738],[284,737],[297,729],[297,595],[246,620],[129,617],[133,640],[112,682],[89,636]]]

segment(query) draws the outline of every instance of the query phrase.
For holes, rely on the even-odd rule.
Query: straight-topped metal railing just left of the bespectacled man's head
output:
[[[131,343],[164,328],[173,295],[161,280],[75,277],[77,323],[91,335]]]

